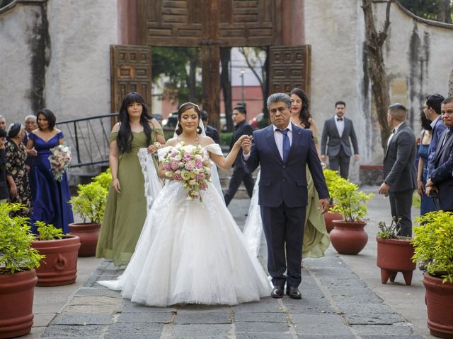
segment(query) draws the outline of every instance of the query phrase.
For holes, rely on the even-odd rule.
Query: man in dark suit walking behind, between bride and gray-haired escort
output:
[[[251,136],[253,132],[252,126],[250,126],[246,120],[246,107],[243,107],[242,105],[236,105],[233,109],[232,117],[235,125],[233,137],[231,138],[231,143],[229,144],[230,150],[231,148],[233,148],[234,143],[236,143],[236,141],[241,138],[241,136],[243,136],[244,134],[246,136]],[[243,170],[241,157],[242,154],[241,152],[239,152],[236,160],[234,160],[233,174],[231,175],[231,179],[229,180],[229,187],[224,196],[226,206],[229,205],[231,199],[234,197],[234,194],[236,194],[236,191],[238,191],[241,182],[243,182],[243,184],[246,186],[247,193],[250,198],[253,194],[253,185],[255,184],[255,182],[252,178],[252,174],[247,173]]]

